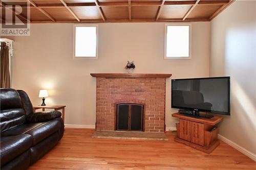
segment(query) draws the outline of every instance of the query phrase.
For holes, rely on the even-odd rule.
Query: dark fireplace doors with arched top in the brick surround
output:
[[[116,130],[143,131],[143,109],[140,104],[117,104]]]

